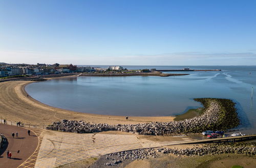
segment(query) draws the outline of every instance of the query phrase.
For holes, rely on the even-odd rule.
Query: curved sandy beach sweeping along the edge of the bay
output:
[[[129,117],[79,113],[55,108],[27,97],[25,86],[34,81],[6,81],[0,83],[0,119],[20,121],[25,124],[48,125],[62,119],[83,120],[90,123],[137,124],[145,122],[168,122],[175,117]]]

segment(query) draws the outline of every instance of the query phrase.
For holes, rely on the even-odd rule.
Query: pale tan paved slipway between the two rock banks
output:
[[[138,139],[135,134],[77,134],[59,131],[44,131],[42,133],[40,150],[35,167],[55,167],[90,157],[140,149],[161,147],[166,142],[153,142],[149,139]],[[191,141],[187,136],[181,141]],[[178,141],[173,142],[178,143]]]

